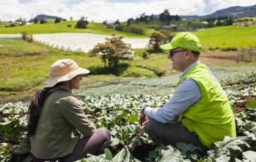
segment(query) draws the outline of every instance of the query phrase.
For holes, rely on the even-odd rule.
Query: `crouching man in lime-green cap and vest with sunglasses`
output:
[[[209,67],[198,62],[200,40],[178,32],[170,43],[172,68],[181,71],[173,96],[162,108],[142,107],[140,125],[155,143],[193,143],[204,151],[224,136],[235,137],[235,119],[228,97]]]

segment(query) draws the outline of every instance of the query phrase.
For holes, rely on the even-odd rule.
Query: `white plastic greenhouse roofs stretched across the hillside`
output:
[[[65,51],[81,52],[93,49],[98,43],[105,43],[107,37],[111,36],[90,33],[33,34],[33,40],[38,43]],[[21,38],[21,34],[0,34],[0,38]],[[142,49],[149,44],[149,38],[122,38],[122,41],[131,45],[131,49]]]

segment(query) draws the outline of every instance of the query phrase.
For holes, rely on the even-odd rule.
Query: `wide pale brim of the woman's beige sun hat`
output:
[[[58,82],[65,82],[67,80],[72,80],[72,78],[74,78],[75,76],[78,76],[81,74],[87,74],[87,73],[89,73],[89,70],[78,67],[76,70],[71,71],[70,73],[49,78],[45,84],[45,88],[50,88],[52,86],[55,86]]]

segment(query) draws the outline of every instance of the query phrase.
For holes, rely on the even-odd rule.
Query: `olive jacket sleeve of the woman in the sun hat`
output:
[[[69,96],[61,99],[61,109],[63,117],[74,128],[81,132],[84,136],[92,135],[96,127],[90,122],[82,110],[76,97]]]

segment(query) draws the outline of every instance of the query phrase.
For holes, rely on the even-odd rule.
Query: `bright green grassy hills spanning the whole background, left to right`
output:
[[[255,18],[253,18],[255,19]],[[151,20],[149,23],[138,22],[132,23],[131,27],[142,27],[144,34],[133,34],[131,32],[120,32],[116,31],[113,28],[107,28],[102,23],[89,23],[87,29],[76,29],[76,21],[62,21],[61,23],[54,23],[54,19],[46,19],[46,24],[32,24],[32,25],[23,25],[19,27],[0,27],[0,34],[20,34],[21,32],[28,32],[28,34],[45,34],[45,33],[60,33],[60,32],[73,32],[73,33],[96,33],[96,34],[105,34],[116,36],[126,36],[126,37],[135,37],[135,38],[149,38],[149,35],[154,32],[153,28],[156,30],[161,29],[161,21]],[[202,26],[200,21],[175,21],[171,22],[176,25],[182,25],[180,29],[186,29],[187,27],[198,27]],[[1,23],[0,23],[1,25]],[[71,25],[71,27],[67,27]],[[127,23],[122,22],[124,31],[127,30]],[[173,29],[165,29],[170,32],[178,32]],[[224,27],[212,27],[200,32],[192,32],[198,38],[200,38],[202,46],[204,49],[209,48],[228,48],[228,47],[255,47],[256,46],[256,25],[243,27],[243,26],[224,26]]]

